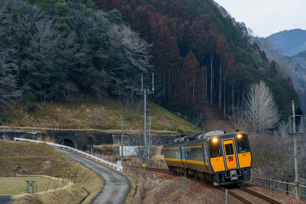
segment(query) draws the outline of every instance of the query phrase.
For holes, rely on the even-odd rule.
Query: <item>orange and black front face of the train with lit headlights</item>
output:
[[[245,132],[212,136],[207,138],[207,142],[215,185],[239,184],[250,179],[252,155]]]

